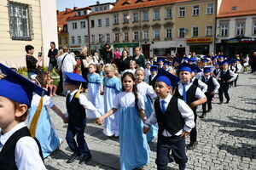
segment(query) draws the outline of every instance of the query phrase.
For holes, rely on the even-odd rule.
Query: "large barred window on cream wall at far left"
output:
[[[9,30],[13,40],[32,40],[32,8],[23,3],[9,2]]]

